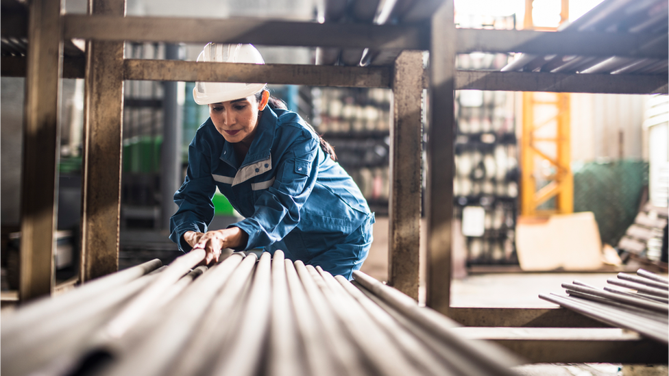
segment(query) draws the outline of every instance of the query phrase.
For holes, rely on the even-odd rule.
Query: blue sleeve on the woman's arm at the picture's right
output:
[[[249,235],[245,250],[267,247],[300,223],[300,209],[316,184],[318,151],[318,141],[304,131],[283,153],[276,180],[256,200],[254,214],[232,225]]]

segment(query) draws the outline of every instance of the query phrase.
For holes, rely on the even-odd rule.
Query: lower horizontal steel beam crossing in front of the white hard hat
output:
[[[389,88],[387,67],[242,64],[126,59],[125,79],[158,81],[268,82],[311,86]]]

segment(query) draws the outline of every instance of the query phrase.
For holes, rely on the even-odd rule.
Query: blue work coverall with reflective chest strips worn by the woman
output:
[[[211,118],[197,129],[186,179],[174,195],[179,209],[170,221],[170,239],[182,251],[191,250],[183,240],[186,231],[207,231],[217,187],[245,217],[231,225],[249,236],[237,251],[281,249],[287,259],[348,279],[369,253],[374,214],[353,179],[294,112],[267,106],[243,161]]]

